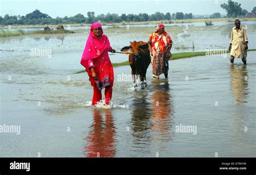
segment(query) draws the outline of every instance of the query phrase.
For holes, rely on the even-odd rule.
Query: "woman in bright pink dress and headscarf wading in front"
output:
[[[115,53],[116,50],[110,46],[109,38],[103,34],[102,26],[93,23],[81,59],[81,64],[85,67],[93,86],[92,106],[102,100],[103,88],[106,105],[112,98],[114,72],[108,52]]]

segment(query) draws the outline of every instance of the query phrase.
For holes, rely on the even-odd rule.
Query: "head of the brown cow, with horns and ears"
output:
[[[130,46],[125,46],[121,49],[122,52],[125,51],[131,51],[132,52],[132,58],[137,59],[140,58],[140,53],[142,52],[142,50],[144,49],[148,49],[149,48],[149,44],[147,44],[146,42],[143,41],[130,41]]]

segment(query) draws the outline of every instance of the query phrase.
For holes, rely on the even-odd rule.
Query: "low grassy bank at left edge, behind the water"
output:
[[[27,34],[59,34],[59,33],[76,33],[71,30],[40,30],[35,31],[33,33],[27,33],[24,30],[17,30],[17,31],[4,31],[3,29],[0,30],[0,38],[1,37],[15,37],[15,36],[23,36]]]

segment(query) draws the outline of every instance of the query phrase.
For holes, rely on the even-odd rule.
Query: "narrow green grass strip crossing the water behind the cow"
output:
[[[247,51],[256,51],[256,49],[249,49]],[[227,53],[230,53],[230,51],[227,51]],[[172,58],[170,60],[177,60],[181,58],[191,58],[191,57],[198,57],[198,56],[205,56],[207,52],[184,52],[184,53],[173,53]],[[211,53],[208,53],[211,54]],[[213,52],[212,52],[213,54]],[[118,66],[128,66],[129,61],[119,62],[119,63],[113,63],[113,67]],[[77,74],[85,72],[84,70],[77,71]]]

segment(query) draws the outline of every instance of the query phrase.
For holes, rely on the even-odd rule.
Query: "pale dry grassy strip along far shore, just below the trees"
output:
[[[180,20],[156,20],[156,21],[148,21],[148,22],[120,22],[120,23],[102,23],[103,25],[147,25],[147,24],[180,24],[180,23],[205,23],[205,22],[234,22],[235,18],[216,18],[216,19],[180,19]],[[256,21],[256,18],[240,18],[241,22],[245,21]],[[67,26],[90,26],[91,24],[63,24],[64,27]],[[48,25],[50,28],[56,27],[56,25]],[[42,27],[45,25],[12,25],[14,28],[22,28],[22,27]],[[8,26],[0,26],[0,28],[8,28]]]

